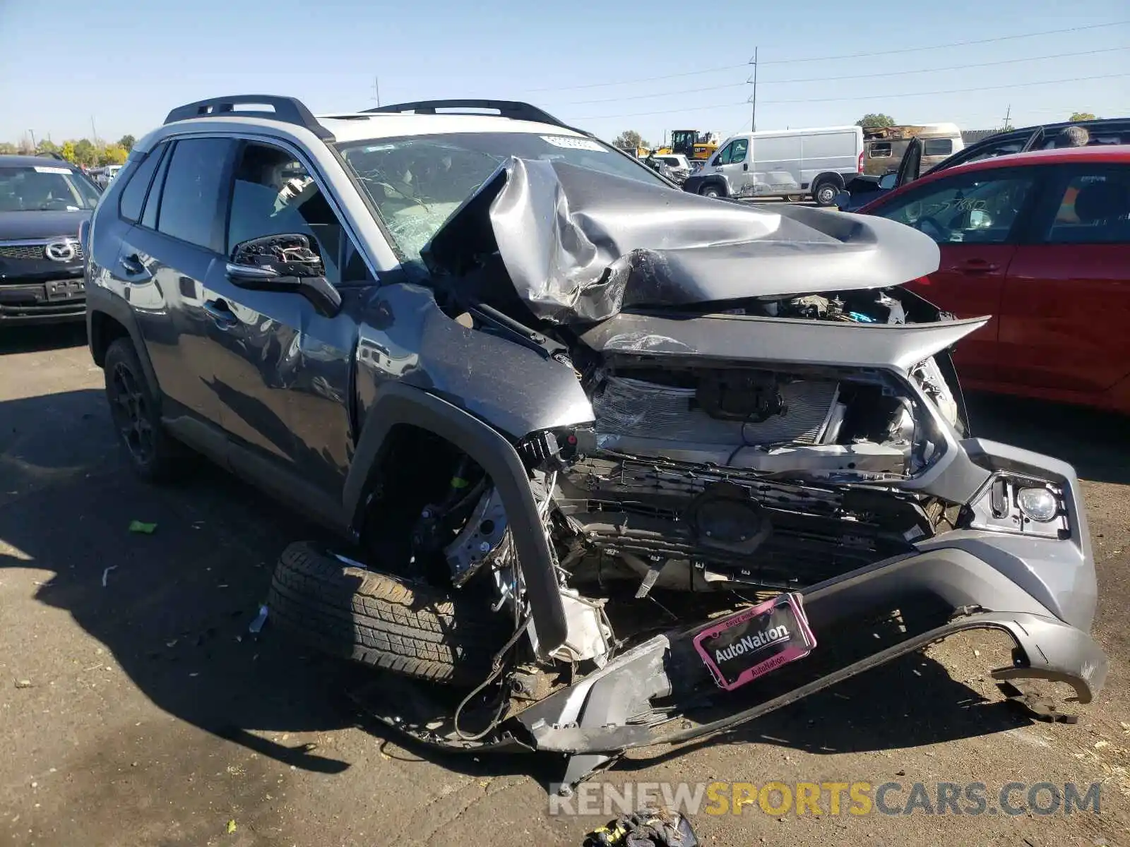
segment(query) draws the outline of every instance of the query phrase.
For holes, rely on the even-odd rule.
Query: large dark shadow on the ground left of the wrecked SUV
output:
[[[175,486],[134,480],[94,390],[0,403],[0,574],[53,571],[28,585],[35,599],[69,612],[154,704],[286,765],[348,768],[261,734],[350,725],[325,697],[338,665],[269,620],[249,632],[278,555],[315,527],[203,460]],[[134,519],[156,530],[130,532]]]

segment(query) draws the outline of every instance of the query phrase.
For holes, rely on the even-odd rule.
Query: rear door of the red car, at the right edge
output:
[[[1130,375],[1130,165],[1038,169],[1045,197],[1005,283],[1001,379],[1101,394]]]

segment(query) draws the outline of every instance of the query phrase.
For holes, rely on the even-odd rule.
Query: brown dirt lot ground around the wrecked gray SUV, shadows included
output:
[[[1035,723],[954,639],[747,727],[599,777],[1005,784],[1103,780],[1102,813],[699,814],[707,845],[1130,845],[1130,438],[1125,422],[974,399],[981,435],[1085,478],[1106,690],[1077,725]],[[132,519],[153,522],[133,534]],[[268,625],[247,634],[285,544],[314,533],[206,466],[180,487],[128,475],[81,331],[0,335],[0,844],[580,845],[533,757],[442,757],[368,725],[347,671]],[[931,788],[932,791],[932,788]],[[1023,795],[1017,795],[1023,797]],[[990,804],[993,805],[993,804]],[[234,821],[234,831],[232,823]]]

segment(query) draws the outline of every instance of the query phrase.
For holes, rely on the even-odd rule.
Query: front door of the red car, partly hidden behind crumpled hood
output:
[[[966,379],[997,378],[1005,279],[1033,193],[1033,176],[1024,168],[957,172],[923,181],[868,209],[938,243],[938,270],[909,288],[958,317],[992,316],[957,346],[954,361]]]

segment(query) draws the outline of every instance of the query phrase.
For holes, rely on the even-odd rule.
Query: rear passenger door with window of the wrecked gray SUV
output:
[[[164,396],[166,418],[185,417],[218,431],[211,318],[205,281],[223,263],[220,184],[235,142],[190,138],[164,145],[145,206],[122,242],[120,273]],[[150,156],[157,154],[154,150]],[[145,174],[138,169],[123,204]],[[175,426],[175,425],[174,425]],[[195,427],[195,434],[208,433]],[[199,445],[207,448],[206,445]]]

